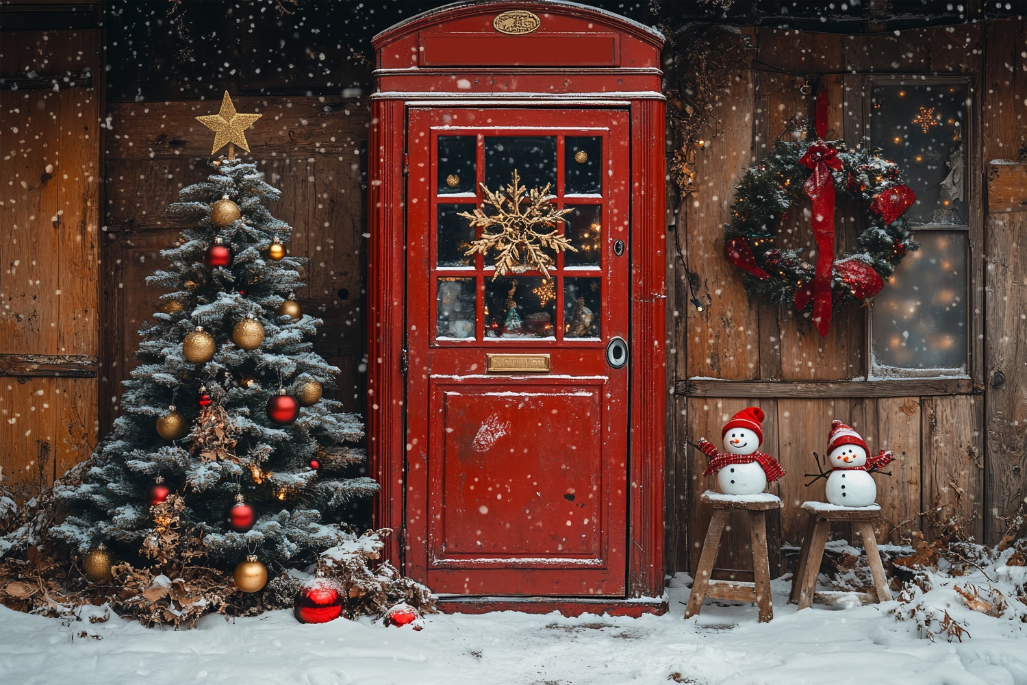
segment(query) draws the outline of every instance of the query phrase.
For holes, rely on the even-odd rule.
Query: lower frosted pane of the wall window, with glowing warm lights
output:
[[[921,231],[916,239],[920,249],[906,256],[874,298],[875,373],[902,369],[964,374],[967,236]]]

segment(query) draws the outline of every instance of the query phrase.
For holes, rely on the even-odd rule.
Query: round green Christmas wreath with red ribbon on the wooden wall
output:
[[[834,255],[835,196],[865,216],[859,250]],[[778,224],[810,198],[815,264],[804,248],[777,242]],[[778,141],[758,165],[747,169],[724,225],[728,262],[743,269],[746,291],[775,303],[794,303],[827,336],[831,313],[846,302],[864,302],[907,253],[917,249],[902,214],[916,200],[895,162],[869,150],[846,150],[841,141]],[[794,242],[794,241],[793,241]]]

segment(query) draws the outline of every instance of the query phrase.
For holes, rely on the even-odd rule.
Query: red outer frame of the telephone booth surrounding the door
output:
[[[492,20],[510,9],[528,9],[542,21],[540,33],[616,33],[619,53],[615,67],[577,67],[573,36],[568,37],[565,64],[530,68],[518,64],[422,66],[421,34],[496,35]],[[576,3],[496,2],[453,5],[414,17],[379,34],[369,148],[368,278],[368,427],[371,464],[382,486],[376,515],[379,526],[394,528],[397,536],[390,558],[406,559],[403,524],[407,436],[405,430],[405,152],[408,107],[454,106],[568,107],[609,104],[626,106],[631,113],[632,193],[631,237],[631,416],[629,598],[658,598],[663,592],[663,470],[667,411],[665,386],[665,160],[664,104],[660,94],[658,33],[622,17]],[[506,600],[497,599],[497,602]],[[509,602],[507,602],[509,603]],[[629,602],[625,602],[625,606]],[[517,605],[518,603],[512,603]],[[581,605],[548,599],[538,607]],[[658,601],[650,602],[659,607]],[[646,605],[646,603],[641,603]],[[456,610],[459,603],[456,603]],[[498,606],[498,605],[494,605]],[[504,608],[512,608],[505,607]],[[646,605],[648,606],[648,605]],[[468,605],[467,610],[473,610]],[[576,610],[576,609],[575,609]],[[634,610],[622,609],[627,613]]]

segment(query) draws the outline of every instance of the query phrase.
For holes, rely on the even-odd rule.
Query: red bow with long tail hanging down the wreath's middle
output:
[[[831,267],[834,264],[835,192],[831,169],[840,169],[841,160],[834,148],[819,140],[806,148],[799,163],[813,172],[802,190],[813,203],[810,228],[816,240],[816,272],[812,283],[796,291],[795,308],[802,309],[812,300],[813,322],[821,335],[827,337],[831,328]]]

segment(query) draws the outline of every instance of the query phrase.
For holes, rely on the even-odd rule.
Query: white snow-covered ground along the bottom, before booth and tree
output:
[[[684,576],[672,583],[663,616],[434,614],[420,632],[370,619],[304,625],[290,611],[206,616],[176,632],[117,616],[90,622],[109,615],[103,607],[80,611],[79,620],[0,607],[0,683],[1027,683],[1027,623],[973,611],[951,588],[986,582],[976,575],[943,579],[918,598],[964,623],[972,637],[961,643],[919,637],[915,621],[888,612],[897,602],[796,611],[785,580],[774,581],[770,623],[758,623],[751,604],[712,601],[684,620]]]

